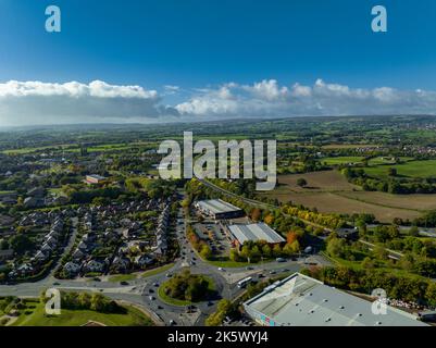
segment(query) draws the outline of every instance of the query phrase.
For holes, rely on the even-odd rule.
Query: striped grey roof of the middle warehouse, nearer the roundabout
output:
[[[247,240],[266,240],[267,243],[282,243],[285,239],[264,223],[250,225],[231,225],[228,229],[240,244]]]

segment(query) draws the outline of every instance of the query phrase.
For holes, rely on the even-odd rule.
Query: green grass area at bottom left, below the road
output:
[[[105,314],[89,310],[62,310],[61,315],[46,316],[43,304],[29,303],[32,313],[22,313],[13,326],[82,326],[88,321],[102,323],[107,326],[151,326],[152,321],[140,310],[125,307],[127,313]],[[26,311],[26,310],[25,310]],[[24,312],[24,311],[23,311]]]

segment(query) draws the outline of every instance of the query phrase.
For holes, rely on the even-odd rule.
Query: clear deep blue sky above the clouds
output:
[[[45,32],[49,4],[62,10],[60,34]],[[375,4],[387,8],[388,33],[371,30]],[[0,0],[0,83],[138,85],[171,107],[204,97],[216,102],[222,88],[245,102],[245,87],[263,80],[276,80],[277,90],[296,83],[314,88],[317,79],[369,91],[436,90],[435,39],[433,0]],[[165,85],[179,88],[170,94]],[[323,100],[315,102],[323,109]],[[8,123],[1,112],[12,109],[0,100],[0,121]],[[288,109],[279,110],[251,114]],[[397,109],[381,109],[388,111]]]

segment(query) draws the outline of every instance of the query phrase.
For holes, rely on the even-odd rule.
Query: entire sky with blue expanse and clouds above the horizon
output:
[[[0,126],[434,114],[435,39],[434,0],[0,0]]]

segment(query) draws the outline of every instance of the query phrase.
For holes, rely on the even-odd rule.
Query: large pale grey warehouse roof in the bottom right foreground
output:
[[[296,273],[244,303],[247,312],[273,326],[426,326],[416,316],[387,307],[374,314],[372,302]]]

